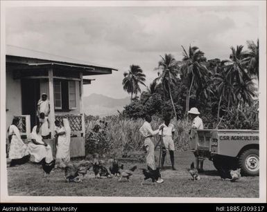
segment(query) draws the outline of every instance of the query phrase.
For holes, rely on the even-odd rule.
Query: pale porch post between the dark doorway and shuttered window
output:
[[[53,68],[49,68],[49,102],[50,102],[50,131],[51,138],[55,135],[55,102],[54,102],[54,83],[53,83]]]

